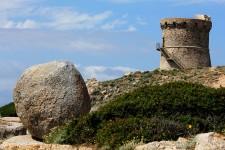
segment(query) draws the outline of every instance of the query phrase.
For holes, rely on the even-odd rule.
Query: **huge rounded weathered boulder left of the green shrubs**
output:
[[[38,139],[91,108],[81,74],[62,61],[28,68],[14,89],[14,102],[22,123]]]

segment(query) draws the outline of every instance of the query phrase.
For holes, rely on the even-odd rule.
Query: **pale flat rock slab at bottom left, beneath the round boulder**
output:
[[[12,137],[2,143],[4,150],[96,150],[94,146],[45,144],[35,141],[30,135]]]

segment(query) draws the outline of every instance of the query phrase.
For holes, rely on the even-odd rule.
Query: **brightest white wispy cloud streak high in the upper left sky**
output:
[[[103,24],[112,15],[111,11],[104,11],[97,14],[80,13],[69,8],[40,8],[33,10],[34,15],[42,17],[37,19],[10,19],[11,15],[6,15],[0,21],[0,28],[6,29],[35,29],[48,28],[56,30],[83,30],[93,29]]]

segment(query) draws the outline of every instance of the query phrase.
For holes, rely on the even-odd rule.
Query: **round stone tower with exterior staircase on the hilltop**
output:
[[[209,32],[210,17],[197,15],[194,19],[166,18],[160,21],[162,47],[160,69],[187,69],[210,67]]]

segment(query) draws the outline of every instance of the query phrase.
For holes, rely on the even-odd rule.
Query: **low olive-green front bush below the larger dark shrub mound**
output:
[[[143,142],[161,139],[174,140],[188,134],[188,129],[181,123],[164,118],[127,118],[103,123],[98,130],[96,141],[100,146],[109,145],[118,148],[122,143],[136,139]]]

